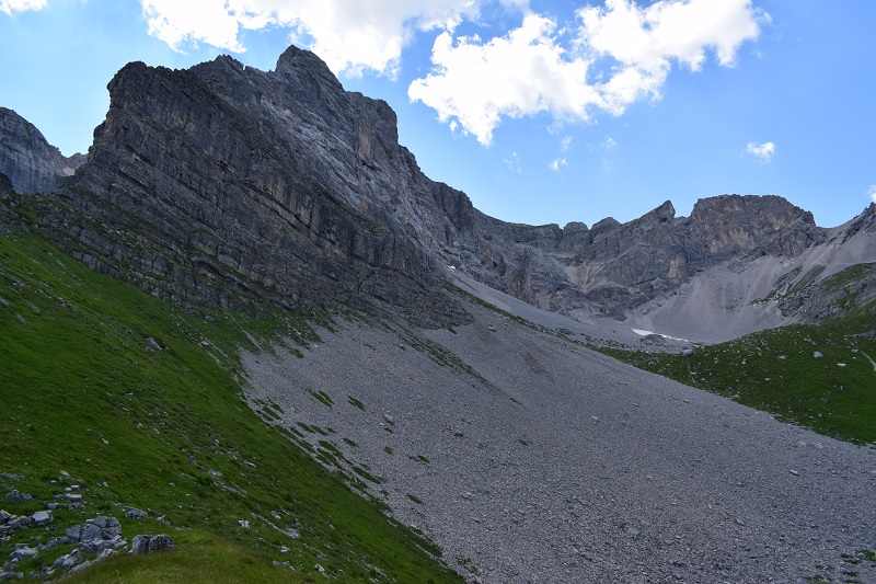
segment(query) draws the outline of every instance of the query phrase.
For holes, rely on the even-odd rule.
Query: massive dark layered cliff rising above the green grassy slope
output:
[[[465,320],[385,188],[381,168],[412,158],[394,116],[344,92],[311,54],[290,49],[274,72],[228,57],[182,71],[135,62],[108,89],[89,163],[47,215],[88,263],[183,302],[255,296]],[[70,221],[70,208],[89,220]]]

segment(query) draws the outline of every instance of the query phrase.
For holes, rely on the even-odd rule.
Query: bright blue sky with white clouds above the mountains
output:
[[[869,0],[0,0],[0,105],[85,151],[126,62],[269,70],[295,42],[494,217],[740,193],[832,227],[876,197],[874,24]]]

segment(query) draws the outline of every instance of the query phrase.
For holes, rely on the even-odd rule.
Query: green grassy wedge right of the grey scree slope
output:
[[[853,266],[851,270],[861,270]],[[844,282],[840,272],[832,282]],[[848,298],[840,299],[845,302]],[[696,348],[692,355],[600,348],[641,369],[764,410],[821,434],[876,443],[873,302],[819,325],[791,325]],[[816,357],[820,353],[820,357]]]

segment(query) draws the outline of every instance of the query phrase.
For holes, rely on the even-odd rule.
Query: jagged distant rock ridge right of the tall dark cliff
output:
[[[666,202],[626,224],[603,219],[515,226],[477,217],[489,261],[458,270],[540,308],[578,318],[623,319],[727,261],[763,254],[793,256],[826,239],[810,213],[776,196],[701,199],[690,217]]]

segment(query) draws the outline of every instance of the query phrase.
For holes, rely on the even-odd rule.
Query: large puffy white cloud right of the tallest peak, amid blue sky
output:
[[[519,28],[489,41],[446,31],[433,47],[433,71],[410,85],[408,96],[487,145],[507,117],[621,115],[644,96],[660,96],[673,60],[699,71],[711,49],[719,65],[733,66],[738,47],[769,22],[751,0],[659,0],[646,8],[607,0],[577,16],[580,26],[567,30],[529,13]],[[574,39],[566,47],[567,33]]]

